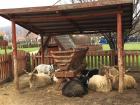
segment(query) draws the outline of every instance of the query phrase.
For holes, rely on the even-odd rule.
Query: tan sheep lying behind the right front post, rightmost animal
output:
[[[113,76],[112,86],[114,89],[118,89],[119,87],[119,75]],[[124,89],[136,88],[137,83],[133,76],[124,75]]]

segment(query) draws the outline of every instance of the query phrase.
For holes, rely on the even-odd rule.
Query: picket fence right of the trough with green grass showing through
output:
[[[103,65],[115,65],[115,56],[117,52],[114,51],[89,51],[86,56],[88,68],[101,68]],[[140,51],[124,51],[124,65],[125,68],[138,70],[140,67]]]

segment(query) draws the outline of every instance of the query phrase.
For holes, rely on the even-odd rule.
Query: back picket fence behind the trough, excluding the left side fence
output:
[[[101,68],[102,65],[115,65],[115,56],[117,52],[114,51],[88,51],[86,55],[87,68]],[[140,51],[124,51],[125,68],[131,70],[138,70],[140,68]],[[32,54],[32,69],[41,64],[41,55]],[[51,56],[45,56],[45,64],[53,64],[54,61]]]

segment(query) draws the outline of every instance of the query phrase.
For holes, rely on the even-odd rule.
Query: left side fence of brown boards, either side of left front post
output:
[[[19,75],[24,73],[24,69],[29,67],[28,53],[24,51],[17,51],[17,65]],[[29,58],[30,59],[30,58]],[[0,55],[0,83],[11,80],[13,78],[13,61],[12,53],[9,55]]]

